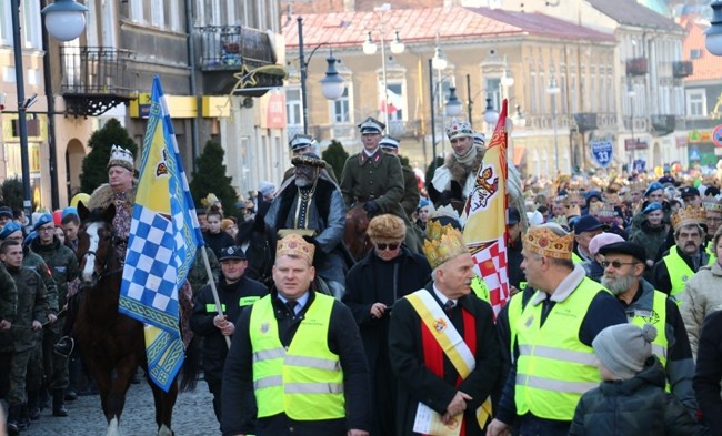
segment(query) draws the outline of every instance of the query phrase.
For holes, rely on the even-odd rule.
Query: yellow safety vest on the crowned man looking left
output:
[[[518,415],[531,412],[540,418],[572,420],[582,394],[599,385],[594,351],[579,341],[579,331],[600,292],[606,291],[584,277],[566,300],[552,307],[544,325],[543,304],[527,305],[515,325]]]

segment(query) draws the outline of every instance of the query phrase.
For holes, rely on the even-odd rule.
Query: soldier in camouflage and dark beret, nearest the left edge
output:
[[[14,240],[0,244],[0,261],[12,276],[18,306],[11,328],[12,344],[0,348],[0,371],[9,374],[8,430],[17,434],[29,423],[26,397],[26,374],[38,341],[37,333],[48,317],[46,285],[38,273],[22,266],[22,245]]]

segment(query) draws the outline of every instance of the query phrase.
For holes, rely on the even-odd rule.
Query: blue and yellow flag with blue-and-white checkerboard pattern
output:
[[[146,323],[150,378],[166,392],[183,365],[178,294],[203,237],[160,78],[153,78],[119,311]]]

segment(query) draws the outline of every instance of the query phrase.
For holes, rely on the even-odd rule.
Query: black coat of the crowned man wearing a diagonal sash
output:
[[[432,285],[427,287],[433,294]],[[437,300],[437,303],[441,303]],[[489,303],[475,295],[464,295],[449,317],[463,337],[461,307],[475,318],[477,326],[477,367],[461,383],[459,388],[449,381],[455,381],[458,373],[444,355],[444,377],[438,377],[425,365],[421,339],[421,318],[407,298],[397,302],[391,316],[389,334],[389,355],[391,367],[399,378],[399,403],[397,415],[397,435],[414,435],[413,422],[419,402],[443,414],[458,391],[469,394],[473,399],[467,402],[467,436],[482,435],[474,416],[477,408],[491,394],[501,366],[501,356],[493,324],[493,312]]]

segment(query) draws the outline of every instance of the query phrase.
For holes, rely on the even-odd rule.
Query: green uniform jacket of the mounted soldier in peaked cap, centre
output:
[[[348,209],[373,200],[379,204],[381,213],[407,219],[401,207],[401,163],[399,158],[382,152],[380,148],[371,158],[361,152],[347,159],[341,175],[341,193]]]

